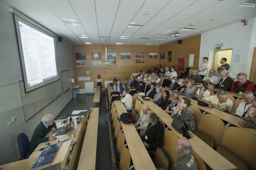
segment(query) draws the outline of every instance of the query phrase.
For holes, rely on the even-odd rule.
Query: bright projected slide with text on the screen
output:
[[[54,38],[19,21],[28,86],[57,77]]]

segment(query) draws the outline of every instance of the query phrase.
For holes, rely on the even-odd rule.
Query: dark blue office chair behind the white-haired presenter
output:
[[[19,151],[21,152],[21,159],[27,159],[31,153],[29,153],[29,140],[25,133],[20,133],[18,136]]]

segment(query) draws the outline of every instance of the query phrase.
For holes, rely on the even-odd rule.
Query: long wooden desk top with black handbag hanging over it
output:
[[[173,118],[158,107],[154,102],[145,100],[144,103],[149,105],[150,110],[155,112],[157,116],[164,121],[164,123],[175,132],[180,138],[183,138],[183,135],[178,133],[171,123],[173,122]],[[189,139],[190,144],[193,147],[193,150],[204,160],[204,162],[213,170],[234,170],[236,167],[226,160],[223,156],[221,156],[218,152],[213,150],[210,146],[204,143],[200,138],[193,134],[193,138]]]

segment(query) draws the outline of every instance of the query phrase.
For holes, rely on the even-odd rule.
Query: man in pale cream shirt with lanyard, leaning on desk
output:
[[[215,108],[223,112],[231,113],[233,109],[233,102],[228,99],[228,94],[225,91],[218,92],[217,95],[204,97],[201,101],[207,103],[209,108]]]

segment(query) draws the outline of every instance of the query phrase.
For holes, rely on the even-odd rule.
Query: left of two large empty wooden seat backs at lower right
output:
[[[213,138],[214,146],[217,148],[225,128],[224,122],[213,114],[203,114],[198,129]],[[202,139],[203,140],[203,139]]]

